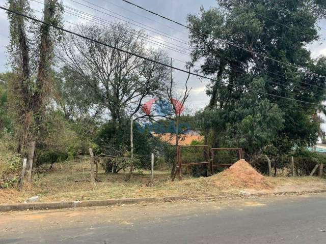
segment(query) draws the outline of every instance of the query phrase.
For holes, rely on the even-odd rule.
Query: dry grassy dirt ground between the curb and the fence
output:
[[[83,181],[89,179],[88,160],[70,161],[57,164],[55,169],[44,166],[34,174],[33,184],[26,183],[23,191],[0,189],[0,204],[22,203],[26,199],[39,196],[40,202],[85,201],[112,198],[141,197],[214,197],[255,193],[306,192],[326,190],[325,179],[318,177],[265,177],[266,187],[231,184],[232,177],[223,175],[191,178],[184,176],[182,181],[171,182],[168,171],[154,172],[154,186],[150,187],[149,171],[135,172],[129,182],[124,173],[105,174],[100,168],[100,182],[91,185]],[[231,180],[231,181],[230,181]],[[234,183],[234,182],[233,182]]]

